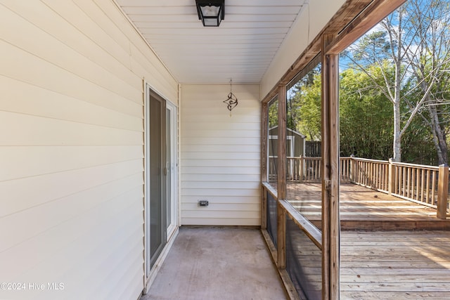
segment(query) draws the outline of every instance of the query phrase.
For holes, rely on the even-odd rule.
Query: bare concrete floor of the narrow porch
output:
[[[141,300],[288,299],[258,229],[181,227]]]

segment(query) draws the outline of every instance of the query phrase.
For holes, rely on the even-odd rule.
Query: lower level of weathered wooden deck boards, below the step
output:
[[[450,299],[449,231],[342,231],[342,299]]]

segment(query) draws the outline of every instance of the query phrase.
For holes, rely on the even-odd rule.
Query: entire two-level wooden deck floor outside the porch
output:
[[[290,184],[287,195],[320,224],[320,184]],[[430,207],[359,185],[340,186],[340,206],[341,299],[450,299],[450,220],[436,219]],[[423,228],[439,230],[417,230]],[[310,286],[320,288],[320,250],[304,236],[291,235],[296,254],[290,259],[295,255]]]

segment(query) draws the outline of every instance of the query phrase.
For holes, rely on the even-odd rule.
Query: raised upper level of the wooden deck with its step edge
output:
[[[288,201],[321,226],[321,183],[288,183]],[[377,192],[361,185],[340,185],[342,230],[450,230],[450,219],[436,218],[432,207]]]

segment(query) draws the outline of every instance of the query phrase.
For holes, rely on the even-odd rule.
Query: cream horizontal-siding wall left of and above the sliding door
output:
[[[2,1],[0,53],[0,298],[138,299],[143,79],[176,80],[111,0]]]

